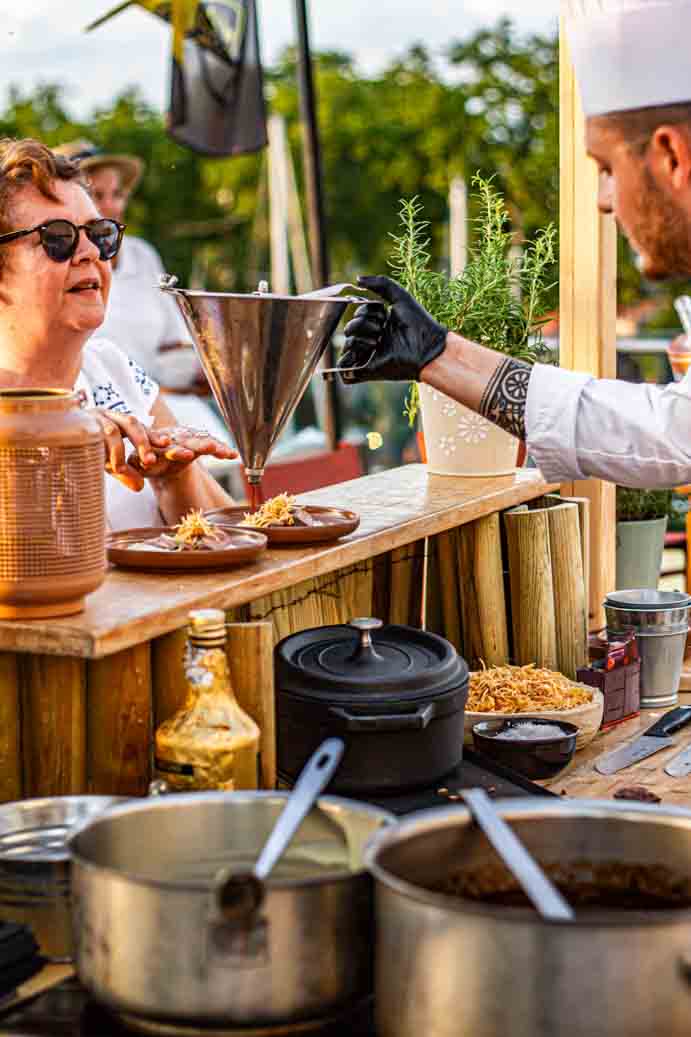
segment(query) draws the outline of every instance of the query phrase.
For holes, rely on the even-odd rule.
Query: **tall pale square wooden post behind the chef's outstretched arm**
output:
[[[598,212],[598,169],[587,157],[585,122],[566,35],[560,34],[559,363],[616,376],[616,225]],[[604,625],[602,602],[615,584],[615,488],[597,479],[565,484],[590,501],[589,628]]]

